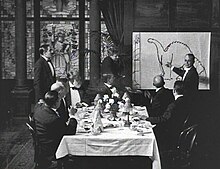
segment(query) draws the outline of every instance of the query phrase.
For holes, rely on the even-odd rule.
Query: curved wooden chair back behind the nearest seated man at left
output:
[[[28,130],[31,133],[32,139],[33,139],[33,146],[34,146],[34,162],[35,162],[35,169],[38,168],[38,154],[39,154],[39,143],[36,135],[36,131],[34,129],[34,126],[30,123],[26,123],[26,126],[28,127]]]

